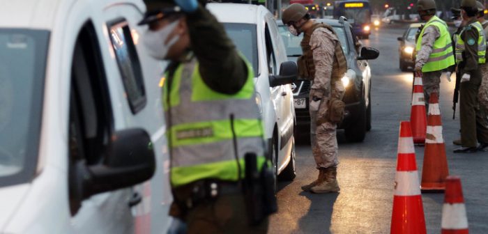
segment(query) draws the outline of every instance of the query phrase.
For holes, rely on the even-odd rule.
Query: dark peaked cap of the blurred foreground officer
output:
[[[181,8],[173,0],[144,0],[146,13],[139,25],[150,24],[169,15],[182,14]]]

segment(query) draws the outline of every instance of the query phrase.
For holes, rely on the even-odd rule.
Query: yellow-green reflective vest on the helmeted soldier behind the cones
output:
[[[454,54],[452,52],[452,40],[448,31],[448,26],[439,17],[432,17],[420,32],[417,40],[416,50],[422,48],[422,37],[428,26],[436,26],[441,36],[434,42],[432,53],[429,55],[427,63],[422,67],[422,72],[433,72],[443,70],[455,64]]]

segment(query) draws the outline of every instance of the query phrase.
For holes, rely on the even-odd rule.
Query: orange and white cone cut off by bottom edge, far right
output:
[[[468,217],[464,206],[461,178],[448,176],[442,208],[442,234],[468,234]]]

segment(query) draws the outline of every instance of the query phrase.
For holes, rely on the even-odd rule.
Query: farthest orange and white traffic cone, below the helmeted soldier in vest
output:
[[[415,77],[413,81],[412,109],[410,113],[413,143],[425,143],[425,132],[427,130],[426,116],[422,78]]]

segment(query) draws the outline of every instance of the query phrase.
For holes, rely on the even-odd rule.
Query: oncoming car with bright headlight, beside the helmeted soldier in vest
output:
[[[399,68],[406,72],[415,65],[415,35],[422,24],[410,24],[403,36],[398,38]]]

